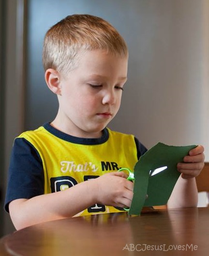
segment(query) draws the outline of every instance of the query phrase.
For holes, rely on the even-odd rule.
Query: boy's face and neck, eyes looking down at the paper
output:
[[[59,112],[52,122],[76,137],[100,137],[119,110],[128,58],[86,51],[78,67],[60,76]]]

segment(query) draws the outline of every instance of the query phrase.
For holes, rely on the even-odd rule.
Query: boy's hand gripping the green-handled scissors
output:
[[[130,207],[134,184],[123,171],[106,173],[94,180],[96,203],[116,207]]]

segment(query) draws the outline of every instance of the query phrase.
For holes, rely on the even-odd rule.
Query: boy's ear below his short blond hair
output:
[[[53,68],[45,71],[45,81],[49,89],[58,95],[61,95],[60,73]]]

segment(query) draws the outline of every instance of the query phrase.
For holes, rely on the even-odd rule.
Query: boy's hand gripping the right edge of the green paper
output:
[[[183,179],[194,178],[199,175],[204,167],[205,155],[204,147],[198,145],[190,150],[189,155],[184,156],[183,163],[178,163],[177,169],[181,172]]]

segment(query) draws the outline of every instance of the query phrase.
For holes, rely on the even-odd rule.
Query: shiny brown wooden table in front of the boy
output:
[[[209,208],[98,214],[30,226],[0,240],[0,255],[209,255]]]

